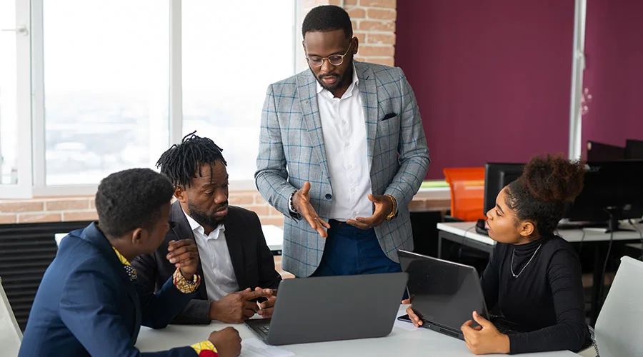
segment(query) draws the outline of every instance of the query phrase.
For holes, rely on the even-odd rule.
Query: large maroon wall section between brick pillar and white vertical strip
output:
[[[424,121],[427,178],[567,153],[574,0],[403,0],[397,16],[395,62]]]

